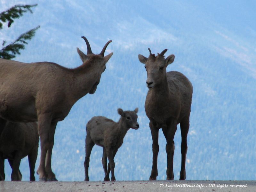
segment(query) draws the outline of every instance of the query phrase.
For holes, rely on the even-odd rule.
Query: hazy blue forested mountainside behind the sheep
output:
[[[85,125],[92,116],[117,121],[117,108],[138,107],[138,130],[129,130],[118,150],[117,180],[148,180],[152,139],[145,114],[147,74],[138,54],[165,48],[175,55],[167,70],[185,74],[193,84],[188,133],[187,180],[255,180],[256,178],[256,12],[255,1],[1,1],[34,4],[31,15],[0,30],[0,42],[40,25],[21,55],[22,62],[51,61],[68,68],[82,64],[76,47],[86,52],[114,52],[93,95],[86,95],[59,122],[52,169],[58,180],[84,180]],[[1,69],[0,69],[1,70]],[[41,82],[44,83],[44,82]],[[179,127],[179,126],[178,126]],[[180,172],[180,130],[175,135],[174,179]],[[166,141],[160,130],[158,177],[166,178]],[[38,167],[40,150],[38,151]],[[103,180],[102,148],[91,154],[90,180]],[[28,161],[20,165],[29,180]],[[11,171],[6,161],[6,180]],[[38,180],[38,176],[36,176]]]

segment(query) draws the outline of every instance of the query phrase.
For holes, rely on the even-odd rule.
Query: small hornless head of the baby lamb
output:
[[[121,115],[121,118],[123,119],[123,122],[126,123],[127,127],[132,129],[139,129],[139,124],[137,122],[137,113],[138,108],[135,108],[134,111],[123,111],[123,109],[118,108],[117,112],[119,115]]]

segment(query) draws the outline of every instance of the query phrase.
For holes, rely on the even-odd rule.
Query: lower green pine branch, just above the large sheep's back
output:
[[[21,34],[15,41],[5,47],[4,41],[2,44],[3,48],[0,50],[0,58],[13,59],[17,54],[20,55],[20,50],[25,49],[25,44],[28,44],[27,40],[30,40],[33,36],[35,36],[38,28],[40,28],[40,26]]]

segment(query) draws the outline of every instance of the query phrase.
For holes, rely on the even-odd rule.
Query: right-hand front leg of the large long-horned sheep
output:
[[[52,148],[54,144],[54,134],[57,123],[57,121],[51,123],[51,129],[49,134],[49,148],[47,150],[45,159],[45,171],[48,177],[48,181],[58,181],[55,177],[55,174],[52,172]]]

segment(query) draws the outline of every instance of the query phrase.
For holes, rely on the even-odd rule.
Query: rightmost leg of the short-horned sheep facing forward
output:
[[[189,116],[184,118],[180,122],[180,132],[181,132],[181,169],[180,169],[180,180],[186,179],[186,155],[188,150],[187,136],[189,129]]]

